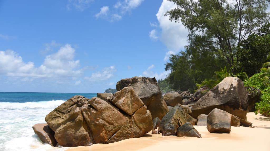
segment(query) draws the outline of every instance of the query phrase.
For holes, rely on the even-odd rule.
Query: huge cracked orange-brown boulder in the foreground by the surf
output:
[[[116,92],[111,100],[76,95],[50,112],[45,121],[64,147],[137,138],[153,129],[150,111],[131,87]]]

